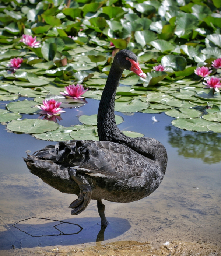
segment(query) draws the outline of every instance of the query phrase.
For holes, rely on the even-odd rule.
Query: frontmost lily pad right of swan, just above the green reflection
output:
[[[208,131],[207,125],[212,124],[213,122],[204,120],[202,118],[192,118],[192,119],[184,119],[178,118],[172,120],[172,125],[178,127],[180,129],[185,129],[187,131]]]

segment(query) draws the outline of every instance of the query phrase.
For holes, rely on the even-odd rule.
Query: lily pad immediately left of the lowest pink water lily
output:
[[[6,105],[6,108],[12,112],[19,112],[21,114],[36,114],[39,112],[39,108],[36,107],[35,101],[15,101]]]

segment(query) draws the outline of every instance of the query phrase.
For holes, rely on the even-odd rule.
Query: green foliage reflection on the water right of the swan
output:
[[[184,131],[174,126],[166,126],[168,142],[173,148],[178,148],[178,154],[187,158],[200,158],[207,164],[221,161],[221,134],[194,133]]]

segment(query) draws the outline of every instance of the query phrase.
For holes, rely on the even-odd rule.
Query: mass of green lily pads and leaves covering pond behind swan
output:
[[[221,57],[220,1],[77,0],[69,7],[62,0],[49,2],[4,1],[1,8],[0,101],[11,101],[7,110],[0,110],[1,122],[21,118],[18,113],[39,113],[36,105],[43,99],[61,101],[63,108],[83,106],[81,100],[60,95],[64,86],[73,83],[83,83],[90,89],[84,96],[99,100],[112,56],[119,49],[129,49],[138,55],[147,78],[124,71],[116,111],[165,111],[176,118],[172,125],[180,129],[221,132],[221,94],[204,89],[194,74],[197,66],[211,68],[212,61]],[[20,42],[23,34],[36,36],[41,44],[36,48],[25,45]],[[22,57],[23,63],[10,70],[10,59],[15,57]],[[159,64],[164,71],[153,70]],[[212,70],[210,75],[220,77],[220,69]],[[19,97],[35,101],[12,102]],[[79,118],[84,125],[65,128],[56,124],[54,130],[40,129],[41,134],[37,130],[35,137],[98,140],[95,116],[89,121],[85,118]],[[39,127],[47,123],[28,120],[36,120],[34,126]],[[25,122],[12,121],[8,129],[18,131],[15,126]]]

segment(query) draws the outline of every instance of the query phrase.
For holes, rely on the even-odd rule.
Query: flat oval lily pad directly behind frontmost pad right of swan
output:
[[[180,109],[170,109],[165,111],[165,114],[172,116],[173,118],[197,118],[202,115],[202,112],[193,108],[180,108]]]

